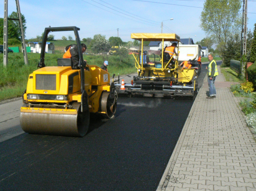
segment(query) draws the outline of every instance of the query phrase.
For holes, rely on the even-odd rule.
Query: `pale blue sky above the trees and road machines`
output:
[[[81,29],[81,39],[102,34],[107,39],[119,35],[130,41],[131,33],[161,33],[163,21],[163,33],[191,37],[196,42],[206,36],[199,27],[203,4],[202,0],[20,0],[20,9],[27,21],[26,39],[41,35],[48,26],[76,26]],[[4,17],[4,1],[0,6],[0,17]],[[256,13],[255,8],[256,1],[248,0],[248,12]],[[9,0],[8,15],[13,11],[15,0]],[[248,18],[248,30],[253,31],[256,14],[248,13]],[[55,39],[74,36],[71,32],[53,35]]]

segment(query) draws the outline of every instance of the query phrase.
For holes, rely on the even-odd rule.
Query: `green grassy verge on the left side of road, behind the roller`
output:
[[[62,58],[63,54],[46,54],[45,65],[57,66],[57,59]],[[101,66],[103,59],[101,56],[84,56],[89,65]],[[0,101],[21,97],[27,87],[28,75],[33,73],[40,61],[40,54],[28,54],[28,65],[24,64],[23,54],[8,54],[8,65],[3,66],[3,54],[0,54]],[[132,55],[129,55],[122,62],[118,56],[108,57],[108,72],[112,76],[135,73],[135,61]]]

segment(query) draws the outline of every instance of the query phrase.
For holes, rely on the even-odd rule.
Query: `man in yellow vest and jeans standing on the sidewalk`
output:
[[[216,89],[215,89],[215,79],[216,76],[218,75],[218,70],[217,70],[217,64],[212,57],[211,54],[208,55],[208,60],[210,61],[207,69],[207,75],[208,75],[208,86],[209,86],[209,95],[210,97],[207,97],[208,99],[214,99],[216,98]]]

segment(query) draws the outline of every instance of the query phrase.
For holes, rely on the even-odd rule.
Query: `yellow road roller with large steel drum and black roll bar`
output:
[[[29,74],[20,113],[20,124],[28,133],[83,137],[89,127],[90,113],[113,118],[117,93],[109,73],[83,61],[77,27],[45,28],[39,69]],[[46,66],[47,35],[56,31],[74,31],[79,65],[71,59],[57,59],[57,66]]]

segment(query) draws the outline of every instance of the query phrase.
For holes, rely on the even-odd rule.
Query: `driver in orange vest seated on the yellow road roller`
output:
[[[81,48],[82,48],[82,52],[86,52],[86,44],[82,43],[81,44]],[[70,44],[69,46],[65,47],[65,54],[63,55],[64,59],[70,59],[72,60],[74,69],[78,68],[78,64],[79,64],[79,54],[78,54],[78,48],[77,48],[77,44]],[[84,66],[86,65],[86,60],[84,60]]]

